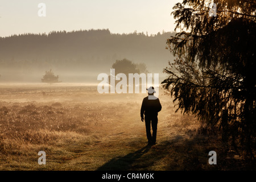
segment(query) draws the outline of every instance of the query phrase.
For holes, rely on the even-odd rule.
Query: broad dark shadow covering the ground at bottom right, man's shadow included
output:
[[[113,158],[99,167],[97,171],[129,171],[150,169],[154,165],[168,171],[212,171],[212,170],[255,170],[253,162],[238,158],[237,154],[223,147],[218,133],[195,133],[189,139],[176,135],[173,139],[164,140],[156,146],[145,146],[126,156]],[[217,165],[209,164],[209,151],[216,151]],[[150,151],[150,155],[146,154]],[[146,154],[146,155],[144,155]],[[164,159],[164,160],[162,160]],[[155,164],[157,163],[157,164]]]

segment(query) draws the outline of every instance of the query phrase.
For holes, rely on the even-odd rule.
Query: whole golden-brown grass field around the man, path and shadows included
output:
[[[163,90],[157,143],[148,147],[140,118],[146,96],[81,85],[1,85],[0,170],[255,169],[221,143],[217,129],[175,113]],[[208,163],[212,150],[217,165]],[[39,151],[46,165],[38,164]]]

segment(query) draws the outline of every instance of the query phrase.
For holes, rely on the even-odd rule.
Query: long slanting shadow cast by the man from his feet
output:
[[[146,154],[150,150],[150,148],[151,146],[147,145],[140,150],[127,154],[126,156],[113,158],[108,163],[99,167],[97,171],[127,171],[132,167],[135,160],[141,158],[143,154]]]

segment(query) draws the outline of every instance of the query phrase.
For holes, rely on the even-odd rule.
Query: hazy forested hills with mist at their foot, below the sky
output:
[[[152,73],[161,73],[172,60],[166,49],[166,40],[171,35],[174,33],[80,30],[0,38],[0,81],[40,81],[49,68],[60,80],[62,77],[64,81],[92,81],[98,73],[109,72],[115,60],[124,58],[145,63]]]

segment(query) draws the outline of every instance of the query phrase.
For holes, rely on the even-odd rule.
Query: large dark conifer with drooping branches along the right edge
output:
[[[209,3],[216,16],[210,16]],[[184,0],[174,6],[175,36],[167,40],[176,56],[162,82],[178,110],[221,125],[228,111],[228,138],[253,157],[256,132],[256,1]]]

